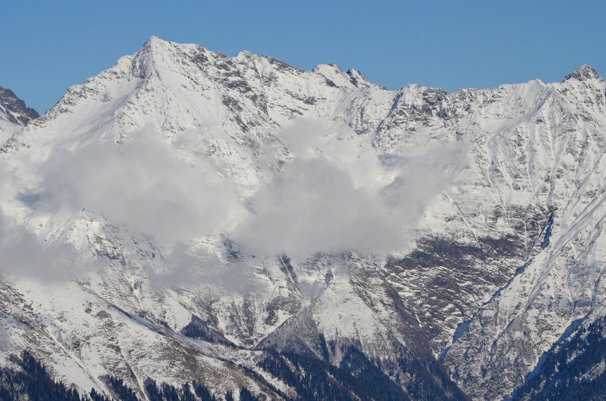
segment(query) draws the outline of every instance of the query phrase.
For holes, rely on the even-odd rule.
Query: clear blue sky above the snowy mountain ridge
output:
[[[151,36],[310,69],[333,62],[396,89],[606,76],[605,1],[8,1],[0,85],[44,113]]]

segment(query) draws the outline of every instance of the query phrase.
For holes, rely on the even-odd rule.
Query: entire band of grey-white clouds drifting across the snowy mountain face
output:
[[[355,145],[339,141],[331,127],[304,122],[279,136],[298,157],[244,199],[224,171],[204,157],[187,164],[158,131],[142,130],[132,138],[120,145],[96,141],[55,149],[32,167],[36,179],[28,185],[16,184],[3,168],[2,202],[18,193],[32,216],[51,220],[78,216],[82,208],[101,213],[164,249],[174,274],[159,279],[176,282],[199,272],[231,287],[242,280],[227,276],[245,277],[250,267],[232,263],[237,271],[225,270],[215,254],[193,245],[197,239],[225,236],[258,255],[401,251],[427,205],[456,182],[467,152],[459,144],[435,142],[414,156],[410,150],[377,155],[370,147],[356,154]],[[0,214],[4,266],[51,271],[70,264],[65,255],[73,249],[50,246],[30,228]],[[213,273],[224,270],[227,278]]]

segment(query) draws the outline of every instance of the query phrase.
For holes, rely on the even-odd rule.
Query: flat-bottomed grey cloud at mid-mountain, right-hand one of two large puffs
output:
[[[232,235],[261,253],[402,250],[425,207],[456,182],[453,161],[465,151],[434,144],[414,157],[371,154],[353,163],[300,157],[249,199],[252,213]]]

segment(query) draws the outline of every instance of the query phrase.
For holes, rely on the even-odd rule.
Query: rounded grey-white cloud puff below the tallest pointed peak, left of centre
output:
[[[35,207],[99,211],[167,247],[224,230],[239,208],[234,188],[210,165],[187,165],[153,130],[133,138],[55,150],[39,168]]]

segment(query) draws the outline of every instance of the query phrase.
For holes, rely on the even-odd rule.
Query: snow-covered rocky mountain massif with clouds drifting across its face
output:
[[[587,65],[390,91],[153,37],[0,127],[2,353],[107,394],[302,396],[302,356],[350,397],[508,397],[606,314],[605,94]]]

